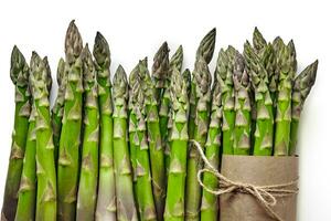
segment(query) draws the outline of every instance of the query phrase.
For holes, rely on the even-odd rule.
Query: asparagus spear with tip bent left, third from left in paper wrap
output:
[[[274,114],[273,101],[268,90],[268,74],[252,45],[246,42],[244,55],[248,75],[252,80],[256,101],[256,130],[254,133],[254,155],[273,154]]]

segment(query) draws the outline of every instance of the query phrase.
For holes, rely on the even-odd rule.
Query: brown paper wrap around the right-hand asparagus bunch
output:
[[[221,173],[229,180],[254,186],[274,186],[298,179],[298,157],[223,156]],[[297,194],[277,197],[271,209],[284,221],[297,220]],[[220,197],[222,221],[275,221],[248,193]]]

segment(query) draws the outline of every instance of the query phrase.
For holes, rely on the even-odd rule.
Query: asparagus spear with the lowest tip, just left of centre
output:
[[[139,62],[139,72],[146,74],[147,66]],[[140,74],[143,74],[140,73]],[[136,175],[137,175],[137,201],[140,220],[157,220],[157,210],[154,206],[151,175],[149,147],[147,140],[146,113],[145,113],[145,94],[140,88],[141,82],[136,81],[131,90],[131,103],[134,108],[130,113],[131,125],[135,127],[135,146],[136,149]],[[164,176],[164,173],[163,173]],[[156,198],[158,199],[158,198]],[[160,208],[163,209],[163,208]]]

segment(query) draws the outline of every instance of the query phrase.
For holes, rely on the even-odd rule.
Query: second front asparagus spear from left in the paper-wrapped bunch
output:
[[[235,90],[235,127],[234,154],[249,155],[250,152],[250,83],[245,71],[244,57],[236,52],[233,82]]]

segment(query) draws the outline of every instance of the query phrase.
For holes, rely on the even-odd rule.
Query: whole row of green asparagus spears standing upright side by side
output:
[[[30,67],[11,55],[15,118],[3,220],[217,220],[218,198],[202,189],[204,168],[192,140],[220,168],[223,155],[295,156],[300,114],[318,61],[297,73],[293,41],[267,42],[255,29],[241,54],[221,49],[209,69],[216,30],[196,51],[192,76],[183,48],[164,42],[110,82],[110,50],[97,32],[93,53],[74,21],[57,64],[57,97],[47,57]],[[114,96],[113,96],[114,95]],[[191,141],[190,141],[191,140]],[[194,143],[194,144],[195,144]],[[204,173],[203,185],[218,180]]]

